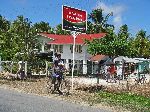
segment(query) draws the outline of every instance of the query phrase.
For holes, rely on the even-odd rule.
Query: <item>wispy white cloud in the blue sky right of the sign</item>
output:
[[[124,5],[106,5],[103,2],[98,2],[96,8],[102,8],[104,10],[104,14],[108,14],[113,12],[113,24],[116,30],[123,24],[122,23],[122,14],[125,11],[126,7]]]

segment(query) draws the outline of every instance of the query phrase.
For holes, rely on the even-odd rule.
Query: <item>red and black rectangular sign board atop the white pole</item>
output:
[[[68,6],[63,6],[63,29],[77,32],[85,32],[86,23],[86,11]]]

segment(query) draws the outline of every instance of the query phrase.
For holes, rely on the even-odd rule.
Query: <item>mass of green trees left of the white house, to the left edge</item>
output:
[[[48,23],[40,22],[32,26],[31,21],[18,16],[13,22],[0,16],[0,56],[2,60],[29,60],[33,49],[39,48],[35,38],[38,32],[51,31]]]

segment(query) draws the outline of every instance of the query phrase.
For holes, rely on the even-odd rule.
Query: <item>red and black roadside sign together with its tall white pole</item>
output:
[[[72,91],[74,73],[74,52],[75,39],[80,33],[85,33],[87,29],[87,12],[69,6],[62,6],[62,29],[71,31],[73,36],[73,66],[72,66]]]

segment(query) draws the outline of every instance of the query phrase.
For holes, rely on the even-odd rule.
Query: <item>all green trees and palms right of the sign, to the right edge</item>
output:
[[[114,32],[114,27],[107,23],[112,13],[103,15],[102,9],[95,9],[89,15],[94,23],[88,21],[88,29],[86,33],[106,32],[106,36],[102,39],[95,39],[92,42],[86,40],[88,51],[90,54],[104,54],[109,56],[128,56],[128,57],[144,57],[149,58],[150,40],[146,36],[146,32],[141,30],[136,37],[131,37],[128,32],[128,26],[120,27],[119,32]]]

